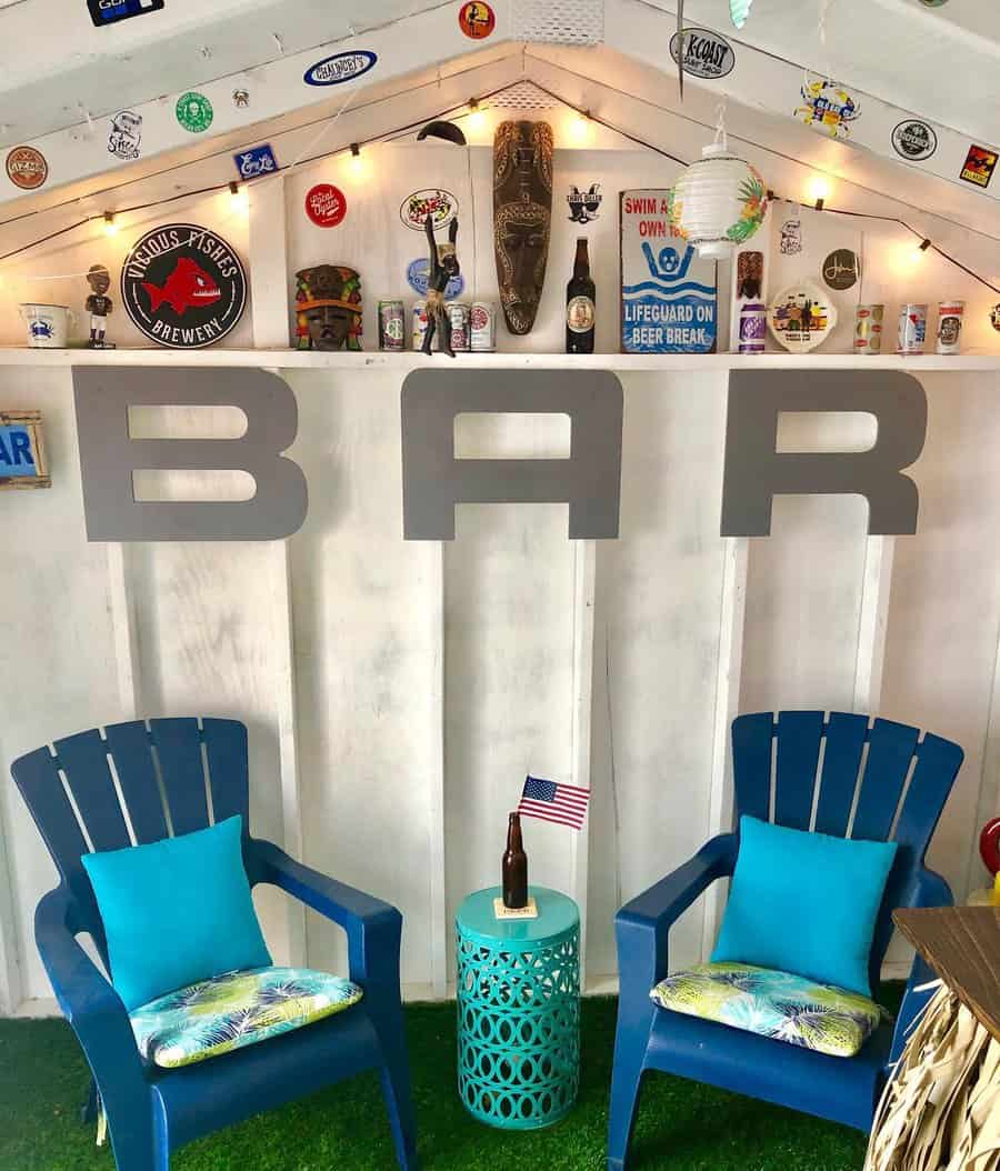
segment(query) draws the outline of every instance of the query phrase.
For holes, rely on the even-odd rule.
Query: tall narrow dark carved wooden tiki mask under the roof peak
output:
[[[493,244],[512,334],[535,323],[552,231],[552,126],[501,122],[493,139]]]

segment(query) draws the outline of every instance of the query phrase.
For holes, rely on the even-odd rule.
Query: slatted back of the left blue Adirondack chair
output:
[[[248,834],[247,730],[238,720],[133,720],[56,740],[54,748],[21,756],[11,772],[102,954],[101,919],[81,862],[88,838],[95,850],[118,850],[160,841],[171,827],[187,834],[235,814]]]

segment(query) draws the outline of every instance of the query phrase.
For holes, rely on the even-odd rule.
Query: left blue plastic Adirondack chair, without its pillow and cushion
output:
[[[200,726],[199,726],[200,725]],[[240,814],[251,884],[280,886],[348,937],[350,979],[363,987],[355,1007],[293,1033],[180,1069],[146,1067],[129,1016],[76,936],[89,932],[107,966],[101,916],[80,858],[88,847],[60,781],[66,776],[95,850],[130,845],[108,767],[115,761],[139,844],[167,836],[162,779],[172,828],[210,824],[203,748],[215,821]],[[399,998],[402,916],[396,908],[327,878],[276,845],[249,836],[247,732],[235,720],[162,719],[82,732],[21,756],[14,780],[61,876],[39,903],[35,939],[60,1006],[94,1075],[108,1117],[118,1171],[169,1171],[171,1151],[251,1115],[377,1069],[396,1155],[416,1171],[416,1127]],[[164,941],[166,945],[166,940]]]

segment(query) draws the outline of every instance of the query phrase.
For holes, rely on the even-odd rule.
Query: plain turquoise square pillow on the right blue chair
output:
[[[895,842],[740,819],[713,964],[754,964],[871,995],[868,960]]]

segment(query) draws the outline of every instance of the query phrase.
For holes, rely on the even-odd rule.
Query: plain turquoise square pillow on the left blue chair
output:
[[[251,899],[242,821],[85,854],[115,991],[131,1012],[225,972],[270,967]]]

